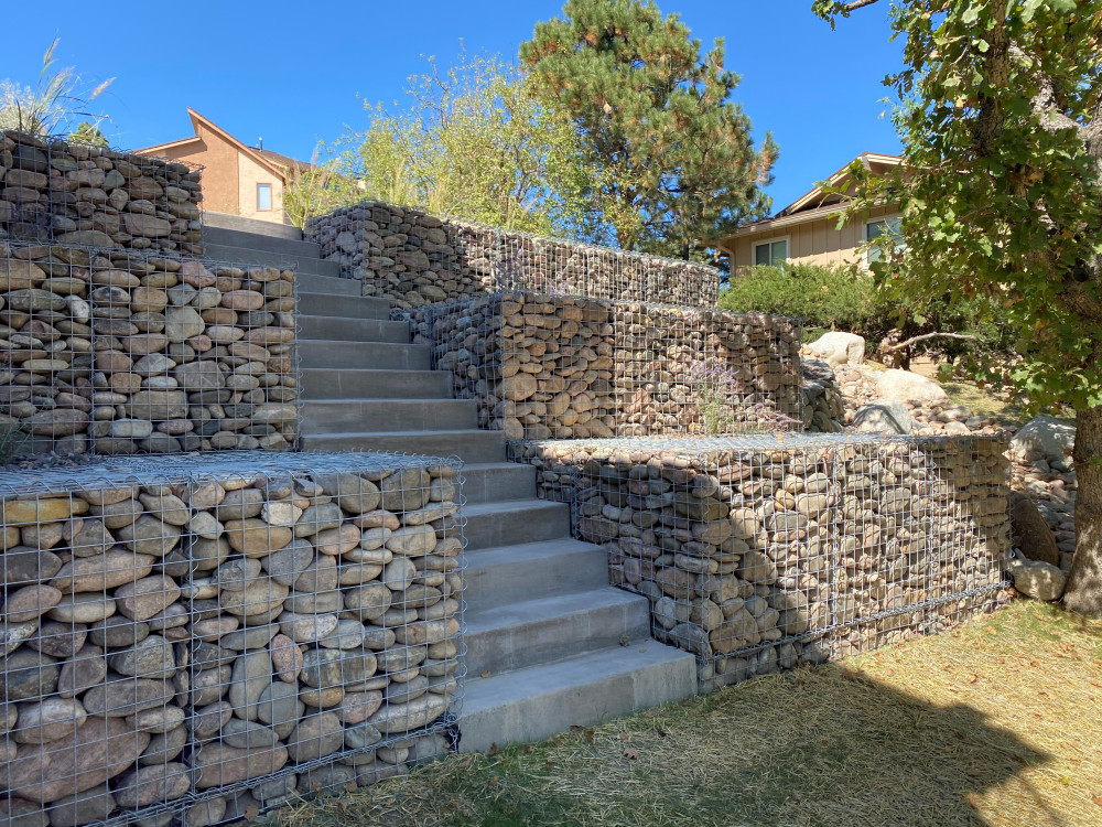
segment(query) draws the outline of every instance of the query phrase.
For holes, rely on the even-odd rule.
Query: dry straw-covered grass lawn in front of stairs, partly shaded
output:
[[[276,816],[290,827],[1102,825],[1102,624],[1017,602]]]

